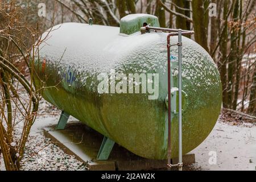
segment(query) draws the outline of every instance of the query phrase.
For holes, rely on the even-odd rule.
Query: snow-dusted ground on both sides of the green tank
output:
[[[32,126],[22,160],[23,170],[86,170],[75,156],[65,154],[43,134],[44,127],[56,125],[59,115],[60,110],[44,100],[41,101],[40,112]],[[193,164],[191,169],[255,170],[255,123],[237,123],[235,120],[240,121],[241,117],[234,118],[235,122],[230,117],[226,122],[223,121],[226,115],[221,116],[208,138],[192,151],[196,154],[196,164]],[[69,120],[74,121],[74,118]],[[19,128],[22,129],[21,126]],[[5,170],[1,156],[0,170]]]

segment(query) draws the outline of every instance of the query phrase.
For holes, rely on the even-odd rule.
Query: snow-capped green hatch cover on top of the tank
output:
[[[120,21],[120,33],[131,35],[141,30],[143,23],[150,24],[152,27],[160,27],[158,17],[149,14],[130,14],[123,17]]]

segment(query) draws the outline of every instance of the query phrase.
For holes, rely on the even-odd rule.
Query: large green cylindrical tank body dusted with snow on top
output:
[[[118,27],[64,23],[42,37],[46,35],[35,63],[36,72],[46,81],[43,97],[134,154],[167,159],[167,33],[125,35],[119,34]],[[209,54],[191,39],[183,36],[182,42],[183,91],[187,94],[187,107],[183,109],[186,154],[212,131],[220,113],[222,91],[220,75]],[[176,43],[177,36],[171,37],[171,44]],[[171,57],[175,86],[177,46],[171,47]],[[157,73],[156,98],[149,99],[152,92],[99,93],[102,80],[98,75],[110,75],[110,90],[113,71],[124,75]],[[116,79],[115,86],[120,81]],[[152,81],[154,85],[156,79]],[[171,131],[172,157],[176,157],[178,117],[173,113]]]

